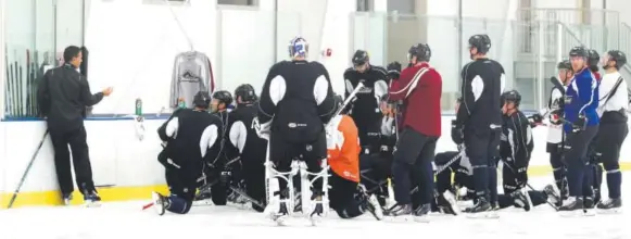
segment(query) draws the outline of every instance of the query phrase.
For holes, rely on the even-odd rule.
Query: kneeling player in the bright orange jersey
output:
[[[341,106],[342,97],[336,96]],[[383,214],[375,196],[369,197],[359,184],[359,138],[357,126],[348,115],[335,116],[327,127],[328,164],[330,165],[329,206],[342,218],[370,212],[381,219]]]

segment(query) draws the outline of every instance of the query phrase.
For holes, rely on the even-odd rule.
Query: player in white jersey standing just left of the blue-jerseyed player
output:
[[[564,95],[567,85],[573,76],[572,66],[569,60],[561,61],[557,64],[558,78],[553,77],[552,80],[558,81],[552,88],[550,93],[550,100],[547,101],[547,108],[542,109],[539,114],[532,116],[535,123],[542,123],[545,115],[558,116],[563,115],[564,106]],[[556,112],[556,113],[555,113]],[[560,190],[561,199],[565,200],[568,197],[568,187],[566,179],[566,166],[561,162],[563,158],[563,146],[561,141],[564,138],[563,123],[551,118],[550,125],[547,126],[547,144],[546,151],[550,153],[550,164],[553,168],[554,180],[556,187]]]

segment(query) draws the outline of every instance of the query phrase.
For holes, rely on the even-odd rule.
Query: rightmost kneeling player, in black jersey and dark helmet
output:
[[[497,201],[492,203],[496,203],[494,206],[500,209],[515,205],[530,211],[531,206],[543,204],[548,199],[547,190],[526,191],[528,165],[533,149],[530,122],[519,111],[521,95],[517,90],[504,92],[501,100],[504,116],[500,156],[503,163],[502,186],[504,194],[499,194]],[[493,168],[493,171],[495,169]],[[552,194],[550,197],[553,198]]]

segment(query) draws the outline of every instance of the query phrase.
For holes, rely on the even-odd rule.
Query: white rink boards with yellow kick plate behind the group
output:
[[[443,116],[443,137],[437,152],[455,150],[449,131],[453,116]],[[131,118],[93,118],[86,121],[88,144],[94,184],[105,201],[149,199],[153,190],[166,191],[164,168],[157,163],[161,150],[155,133],[165,118],[147,118],[144,137],[140,140]],[[15,121],[0,123],[0,209],[7,206],[37,144],[46,130],[40,121]],[[545,152],[545,126],[533,129],[534,151],[529,174],[541,176],[551,172],[548,154]],[[622,169],[631,168],[631,146],[627,140],[622,147]],[[61,204],[59,185],[54,173],[53,151],[50,139],[40,149],[14,206]],[[75,192],[74,203],[81,203]]]

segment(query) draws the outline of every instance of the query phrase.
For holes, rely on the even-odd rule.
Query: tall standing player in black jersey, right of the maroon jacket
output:
[[[455,121],[455,133],[462,138],[474,167],[474,188],[477,203],[466,210],[480,213],[491,210],[487,190],[496,191],[496,171],[493,159],[499,155],[497,144],[502,124],[500,97],[504,91],[504,68],[496,61],[487,58],[491,39],[487,35],[474,35],[469,38],[469,54],[472,62],[465,65],[462,72],[463,104],[458,108]],[[491,183],[489,183],[491,180]],[[495,184],[493,184],[495,183]],[[489,187],[490,186],[490,187]],[[491,199],[494,200],[494,199]]]

